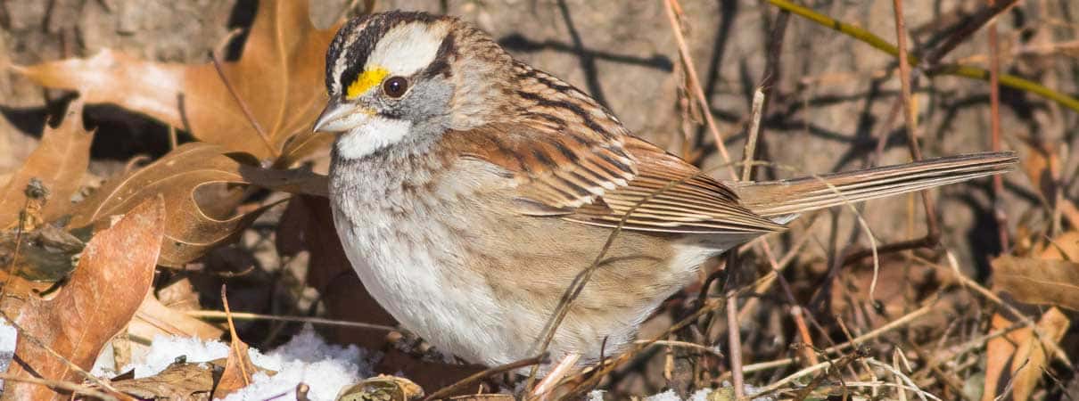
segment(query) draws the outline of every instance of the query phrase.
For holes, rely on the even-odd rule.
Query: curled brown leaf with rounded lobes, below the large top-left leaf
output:
[[[221,196],[204,203],[196,199],[196,192],[211,189],[211,184],[246,183],[240,174],[243,164],[234,158],[241,156],[219,146],[185,143],[146,167],[106,182],[77,206],[70,225],[81,227],[105,221],[147,197],[162,194],[169,216],[158,264],[181,266],[231,241],[265,210],[262,207],[228,217],[240,204],[238,197]]]

